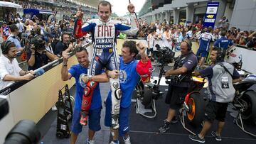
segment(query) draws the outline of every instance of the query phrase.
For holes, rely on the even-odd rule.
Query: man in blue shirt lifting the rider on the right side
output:
[[[122,90],[122,98],[120,103],[120,113],[119,113],[119,130],[111,129],[113,135],[113,141],[111,144],[119,143],[119,136],[124,136],[124,143],[130,144],[129,138],[129,113],[131,111],[131,99],[132,92],[139,79],[142,82],[149,82],[151,61],[146,57],[146,47],[142,43],[135,43],[134,41],[125,41],[122,45],[122,57],[119,57],[120,71],[113,70],[107,71],[107,75],[113,79],[119,77],[120,87]],[[142,60],[134,59],[138,54],[141,55]],[[109,92],[106,100],[106,115],[105,115],[105,126],[111,127],[111,92]]]

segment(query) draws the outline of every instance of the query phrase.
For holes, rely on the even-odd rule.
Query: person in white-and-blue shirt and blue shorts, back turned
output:
[[[196,56],[200,57],[201,55],[201,60],[198,62],[199,67],[203,65],[203,62],[206,60],[206,57],[208,55],[208,52],[210,50],[210,41],[214,41],[213,35],[210,33],[211,27],[207,29],[205,33],[202,33],[199,36],[199,48],[198,51],[196,52]]]

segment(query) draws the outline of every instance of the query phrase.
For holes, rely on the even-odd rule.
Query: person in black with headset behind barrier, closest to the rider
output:
[[[61,35],[60,41],[55,45],[55,55],[61,55],[63,51],[70,52],[73,49],[73,44],[70,43],[71,37],[68,33]]]

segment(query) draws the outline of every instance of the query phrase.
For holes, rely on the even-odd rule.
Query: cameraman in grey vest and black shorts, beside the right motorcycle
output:
[[[218,128],[217,131],[212,131],[211,135],[215,137],[215,140],[221,140],[220,133],[225,124],[228,103],[233,101],[235,96],[233,83],[242,80],[234,66],[228,62],[224,62],[223,52],[220,48],[213,48],[210,53],[210,60],[213,62],[213,65],[207,67],[205,70],[193,73],[194,76],[208,77],[209,80],[207,92],[209,102],[206,105],[203,118],[203,129],[198,135],[189,135],[191,140],[200,143],[205,143],[204,136],[210,129],[214,119],[218,120]]]

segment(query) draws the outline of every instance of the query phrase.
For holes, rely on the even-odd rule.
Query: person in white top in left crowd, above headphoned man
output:
[[[11,40],[11,42],[14,42],[16,48],[18,51],[23,51],[24,49],[21,47],[21,42],[18,40],[18,27],[15,24],[12,24],[10,26],[11,29],[11,35],[7,38],[7,40]]]

